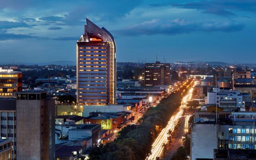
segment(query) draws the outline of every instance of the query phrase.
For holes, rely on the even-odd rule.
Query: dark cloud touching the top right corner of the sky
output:
[[[236,16],[234,11],[256,13],[255,0],[201,0],[199,2],[172,4],[172,6],[204,10],[203,13],[210,13],[218,16]]]

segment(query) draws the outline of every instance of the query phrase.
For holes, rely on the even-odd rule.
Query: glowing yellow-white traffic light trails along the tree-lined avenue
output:
[[[176,115],[173,115],[169,122],[167,123],[166,127],[162,129],[154,143],[152,144],[151,154],[146,158],[146,160],[155,160],[156,157],[160,157],[163,153],[162,144],[167,144],[168,140],[168,130],[173,131],[178,119],[182,116],[184,108],[186,108],[187,101],[192,98],[194,86],[189,90],[188,94],[182,98],[182,102],[180,105],[180,110]],[[188,118],[189,119],[189,118]]]

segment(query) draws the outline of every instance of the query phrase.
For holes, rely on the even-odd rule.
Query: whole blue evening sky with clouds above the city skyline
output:
[[[0,62],[75,61],[86,17],[117,62],[255,63],[256,0],[0,0]]]

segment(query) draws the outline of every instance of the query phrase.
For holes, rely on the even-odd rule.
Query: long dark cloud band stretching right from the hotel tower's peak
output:
[[[190,32],[235,32],[244,28],[244,24],[237,24],[234,21],[227,22],[188,22],[186,20],[174,19],[161,21],[153,19],[140,24],[124,28],[122,30],[114,30],[116,34],[126,36],[138,35],[177,35]]]

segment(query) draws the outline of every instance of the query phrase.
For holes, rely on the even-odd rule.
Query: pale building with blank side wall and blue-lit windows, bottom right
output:
[[[217,115],[216,123],[214,106],[207,108],[206,112],[196,112],[191,130],[191,160],[213,159],[214,149],[236,149],[237,153],[256,149],[256,112],[223,112],[218,109]]]

